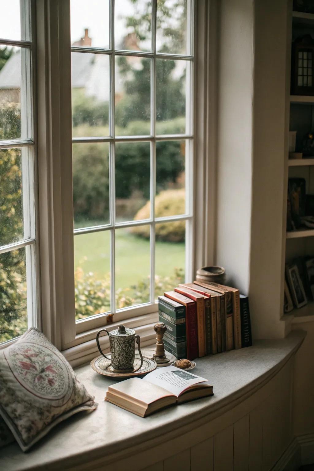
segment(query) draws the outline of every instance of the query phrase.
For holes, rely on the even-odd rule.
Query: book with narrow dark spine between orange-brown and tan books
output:
[[[210,296],[210,290],[203,290],[201,286],[194,283],[182,283],[179,287],[189,288],[199,294],[206,295],[205,302],[205,337],[206,353],[217,353],[217,317],[216,317],[216,297]]]

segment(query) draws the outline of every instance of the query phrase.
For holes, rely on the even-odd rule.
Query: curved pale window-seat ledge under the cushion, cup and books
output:
[[[97,410],[58,425],[26,455],[17,444],[4,447],[0,469],[105,469],[108,463],[150,449],[169,437],[180,437],[185,428],[191,430],[220,417],[262,389],[294,355],[304,337],[304,332],[294,331],[285,339],[259,340],[247,349],[197,359],[194,371],[214,385],[214,396],[145,419],[106,403],[105,392],[112,380],[93,372],[89,365],[81,366],[76,374],[95,394]]]

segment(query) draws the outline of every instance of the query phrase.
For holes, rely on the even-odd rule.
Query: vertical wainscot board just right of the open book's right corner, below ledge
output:
[[[214,436],[214,470],[233,471],[233,425]]]

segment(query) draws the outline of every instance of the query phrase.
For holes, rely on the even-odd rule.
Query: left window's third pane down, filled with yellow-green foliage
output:
[[[0,245],[23,238],[21,149],[0,149]]]

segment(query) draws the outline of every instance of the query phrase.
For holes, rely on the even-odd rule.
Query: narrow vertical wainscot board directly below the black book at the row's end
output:
[[[249,471],[250,415],[247,414],[234,424],[233,471]]]

